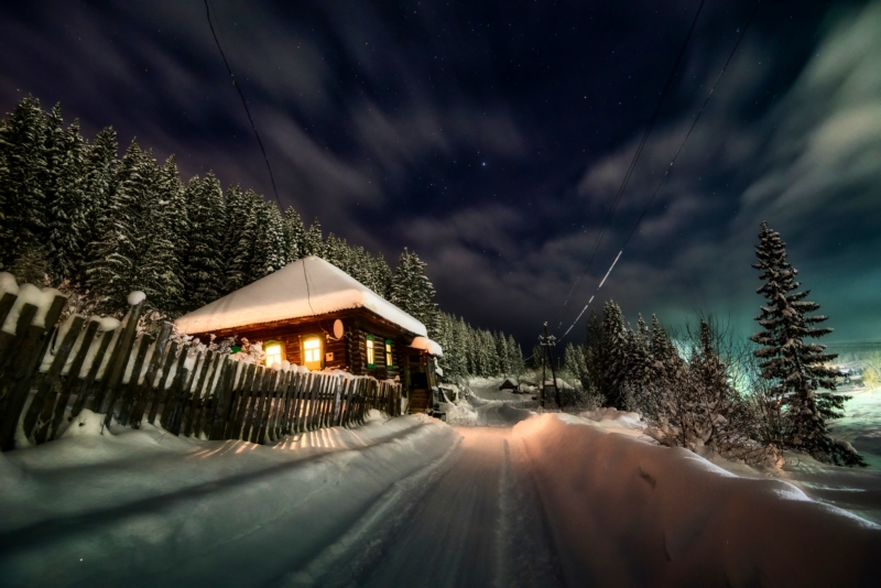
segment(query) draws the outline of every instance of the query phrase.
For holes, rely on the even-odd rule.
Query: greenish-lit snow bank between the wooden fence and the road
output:
[[[101,421],[84,411],[63,438],[0,455],[3,586],[271,584],[459,439],[436,420],[378,412],[275,446]]]

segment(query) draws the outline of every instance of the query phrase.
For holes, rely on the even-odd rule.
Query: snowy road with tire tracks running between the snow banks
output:
[[[381,563],[360,577],[350,577],[352,584],[377,588],[562,585],[531,481],[524,472],[512,470],[511,431],[458,433],[461,443],[444,471],[418,489],[420,496],[409,497],[413,507],[406,524],[382,536]]]

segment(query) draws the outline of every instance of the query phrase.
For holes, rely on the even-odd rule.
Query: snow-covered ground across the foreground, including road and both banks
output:
[[[630,413],[483,402],[516,424],[373,413],[257,446],[84,413],[0,457],[0,584],[881,582],[881,527],[796,484],[660,447]]]

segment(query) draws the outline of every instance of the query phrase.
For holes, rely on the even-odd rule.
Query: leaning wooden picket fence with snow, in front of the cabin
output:
[[[11,283],[10,283],[11,280]],[[156,418],[174,435],[275,440],[362,422],[377,409],[401,414],[401,386],[341,372],[269,369],[172,340],[138,334],[143,296],[130,297],[122,323],[73,315],[57,325],[66,298],[0,274],[0,443],[57,438],[84,409],[119,425]]]

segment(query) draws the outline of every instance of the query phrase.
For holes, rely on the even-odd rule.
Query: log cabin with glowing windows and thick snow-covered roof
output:
[[[203,341],[261,342],[267,366],[289,361],[309,370],[345,370],[399,380],[409,412],[432,406],[439,345],[425,325],[317,257],[285,265],[175,320]]]

